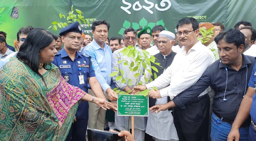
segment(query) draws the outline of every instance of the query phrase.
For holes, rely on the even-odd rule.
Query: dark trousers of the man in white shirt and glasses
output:
[[[186,104],[185,107],[173,108],[174,125],[179,141],[207,141],[210,108],[208,94]]]

